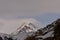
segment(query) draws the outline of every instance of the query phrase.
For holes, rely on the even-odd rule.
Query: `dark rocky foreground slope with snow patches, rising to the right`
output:
[[[32,40],[60,40],[60,19],[57,19],[56,21],[39,30],[40,32],[42,31],[42,35],[31,35],[25,40],[30,40],[31,38]]]

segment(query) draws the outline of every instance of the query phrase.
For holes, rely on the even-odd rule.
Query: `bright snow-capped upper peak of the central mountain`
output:
[[[37,29],[41,28],[42,25],[35,19],[25,19],[21,21],[22,24],[12,32],[12,34],[18,34],[20,32],[35,32]]]

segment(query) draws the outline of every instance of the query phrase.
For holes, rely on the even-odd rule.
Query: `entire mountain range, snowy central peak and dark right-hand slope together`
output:
[[[0,33],[0,38],[4,40],[59,40],[60,38],[60,19],[42,27],[35,19],[26,19],[11,34]],[[58,34],[58,35],[57,35]]]

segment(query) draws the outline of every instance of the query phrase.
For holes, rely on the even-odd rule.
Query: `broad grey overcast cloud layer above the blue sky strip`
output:
[[[0,0],[0,17],[37,16],[60,13],[60,0]]]

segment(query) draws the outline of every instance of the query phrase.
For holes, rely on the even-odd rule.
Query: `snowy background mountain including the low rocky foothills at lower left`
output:
[[[13,21],[14,22],[14,21]],[[6,37],[12,38],[13,40],[24,40],[25,37],[35,33],[39,28],[42,28],[41,23],[35,19],[22,19],[20,25],[11,34],[2,33],[3,39]],[[22,37],[22,38],[21,38]]]

